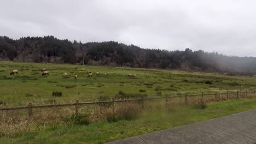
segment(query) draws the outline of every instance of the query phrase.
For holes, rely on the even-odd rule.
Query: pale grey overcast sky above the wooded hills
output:
[[[256,1],[1,1],[0,35],[256,56]]]

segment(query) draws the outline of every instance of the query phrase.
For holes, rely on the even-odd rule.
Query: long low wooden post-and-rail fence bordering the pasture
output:
[[[107,101],[91,101],[91,102],[84,102],[84,103],[79,103],[79,100],[75,101],[73,104],[54,104],[54,105],[32,105],[32,103],[28,103],[27,106],[21,106],[21,107],[5,107],[1,108],[0,111],[7,111],[7,110],[20,110],[20,109],[27,109],[28,110],[28,117],[32,117],[33,112],[32,109],[36,108],[43,108],[43,107],[56,107],[56,106],[75,106],[75,114],[78,114],[78,108],[79,105],[91,105],[91,104],[112,104],[114,105],[115,103],[122,103],[124,101],[141,101],[142,103],[142,109],[144,108],[144,101],[145,100],[153,100],[153,99],[165,99],[165,104],[168,104],[168,101],[170,101],[173,98],[184,98],[184,104],[188,104],[188,98],[189,97],[200,97],[201,100],[202,98],[212,96],[214,99],[218,99],[219,97],[225,97],[225,99],[239,99],[239,98],[246,98],[248,94],[255,94],[255,89],[254,91],[244,91],[244,92],[226,92],[226,93],[209,93],[209,94],[193,94],[193,95],[175,95],[175,96],[169,96],[166,95],[165,97],[142,97],[142,98],[136,98],[136,99],[112,99],[112,100],[107,100]],[[224,95],[224,96],[223,96]],[[232,97],[231,97],[232,95]],[[235,95],[235,97],[234,97]],[[113,106],[114,107],[114,106]],[[114,108],[113,108],[114,110]]]

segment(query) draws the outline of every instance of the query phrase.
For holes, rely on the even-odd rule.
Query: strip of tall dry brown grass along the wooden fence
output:
[[[240,93],[239,98],[255,98],[253,93]],[[236,99],[236,94],[230,94],[229,99]],[[226,94],[205,97],[188,97],[187,104],[200,106],[201,109],[211,101],[226,101]],[[184,105],[185,97],[168,98],[167,106]],[[141,112],[150,112],[154,109],[164,109],[166,99],[145,100],[144,110],[142,101],[115,103],[103,105],[79,105],[79,115],[75,114],[74,106],[49,107],[33,109],[32,118],[27,117],[27,110],[0,111],[0,136],[15,136],[31,131],[43,131],[48,125],[59,124],[63,127],[70,124],[88,124],[98,121],[117,122],[122,119],[135,119]]]

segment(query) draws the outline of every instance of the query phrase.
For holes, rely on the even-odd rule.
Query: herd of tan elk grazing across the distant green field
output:
[[[42,76],[46,76],[46,75],[50,74],[49,71],[47,71],[46,68],[42,68],[42,69],[40,69],[40,71],[42,71]],[[92,77],[92,72],[90,70],[87,70],[86,73],[87,73],[87,77]],[[14,75],[14,74],[18,75],[18,69],[11,70],[9,74],[10,75]],[[98,76],[98,75],[100,75],[100,73],[97,71],[96,75]],[[107,76],[107,73],[104,73],[104,76]],[[62,77],[67,77],[67,73],[66,72],[63,73]],[[75,74],[74,75],[74,79],[77,79],[77,77],[78,77],[78,75]],[[128,74],[127,77],[135,78],[136,74],[133,74],[133,75],[132,74]]]

